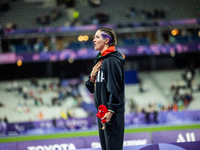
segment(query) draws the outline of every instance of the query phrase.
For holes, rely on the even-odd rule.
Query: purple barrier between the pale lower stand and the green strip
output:
[[[180,112],[159,112],[157,120],[155,121],[154,113],[150,114],[149,123],[154,125],[180,125],[180,124],[194,124],[200,122],[200,111],[180,111]],[[96,118],[69,118],[69,119],[55,119],[55,120],[41,120],[31,122],[8,123],[7,126],[0,128],[1,136],[10,135],[31,135],[37,133],[37,130],[65,130],[74,131],[82,129],[96,129]],[[145,113],[129,113],[125,115],[126,127],[137,127],[141,125],[148,125]]]

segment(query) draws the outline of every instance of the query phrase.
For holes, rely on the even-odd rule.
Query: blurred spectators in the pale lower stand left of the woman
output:
[[[67,85],[63,85],[60,79],[52,79],[48,82],[39,83],[38,78],[31,78],[29,84],[22,84],[20,81],[14,80],[8,83],[7,87],[5,87],[5,92],[9,92],[13,96],[17,93],[18,96],[23,100],[18,100],[18,104],[16,106],[16,111],[21,113],[31,113],[31,109],[34,104],[34,107],[61,107],[64,103],[68,101],[68,98],[73,99],[73,106],[71,108],[66,108],[62,112],[60,112],[60,118],[67,119],[69,117],[77,117],[73,114],[73,108],[81,107],[83,103],[83,98],[80,94],[78,86],[82,83],[81,80],[77,80],[74,83],[68,83]],[[56,93],[50,94],[47,99],[44,98],[44,94],[48,93]],[[30,103],[32,102],[32,103]],[[7,107],[5,104],[1,103],[1,107]],[[70,106],[69,106],[70,107]],[[81,115],[80,115],[81,116]],[[34,118],[32,118],[34,119]],[[37,119],[44,119],[43,112],[38,112]]]

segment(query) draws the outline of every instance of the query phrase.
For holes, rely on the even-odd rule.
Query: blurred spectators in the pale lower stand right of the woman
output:
[[[200,93],[200,68],[195,68],[193,65],[185,67],[184,73],[177,81],[171,81],[169,86],[169,97],[172,102],[168,106],[164,106],[160,102],[148,103],[145,107],[137,105],[134,97],[127,99],[127,108],[130,112],[144,113],[146,123],[158,123],[158,113],[165,111],[183,111],[188,110],[188,106],[194,100],[194,93]],[[195,78],[196,77],[196,78]],[[138,83],[138,93],[144,94],[150,90],[146,87],[145,82]],[[153,117],[152,117],[152,116]],[[153,122],[151,119],[153,118]]]

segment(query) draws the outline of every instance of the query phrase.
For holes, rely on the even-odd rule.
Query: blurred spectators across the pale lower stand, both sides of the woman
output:
[[[147,103],[145,107],[138,106],[134,97],[131,99],[126,99],[126,111],[130,113],[144,113],[146,123],[153,122],[158,123],[158,113],[163,111],[182,111],[187,110],[189,104],[194,100],[193,93],[200,92],[200,83],[199,81],[195,81],[195,76],[200,75],[200,70],[198,68],[194,68],[192,65],[190,67],[186,67],[184,74],[180,76],[180,80],[177,82],[172,81],[169,87],[170,89],[170,97],[172,99],[172,103],[168,106],[163,105],[161,102],[155,103]],[[70,79],[69,79],[70,81]],[[61,107],[69,98],[73,98],[73,107],[68,109],[67,111],[60,112],[60,117],[67,119],[69,117],[76,117],[73,114],[74,107],[83,108],[85,106],[84,97],[80,94],[79,85],[83,84],[83,78],[80,77],[76,82],[62,81],[59,79],[53,79],[50,82],[38,82],[37,78],[31,78],[29,81],[29,85],[19,84],[17,80],[9,82],[7,87],[5,87],[5,92],[10,94],[18,94],[23,101],[19,101],[16,106],[16,111],[18,113],[31,113],[31,107],[27,103],[28,101],[34,102],[34,107],[40,106],[58,106]],[[194,84],[196,82],[196,84]],[[138,84],[138,94],[144,94],[150,92],[146,87],[145,82],[139,82]],[[196,86],[197,85],[197,86]],[[56,92],[57,94],[49,98],[49,103],[46,103],[42,97],[42,94],[47,92]],[[0,103],[1,107],[6,107],[3,103]],[[85,106],[86,108],[86,106]],[[90,108],[91,109],[91,108]],[[86,110],[88,116],[92,115],[94,112],[90,112]],[[1,116],[2,117],[2,116]],[[44,119],[43,113],[38,113],[39,119]]]

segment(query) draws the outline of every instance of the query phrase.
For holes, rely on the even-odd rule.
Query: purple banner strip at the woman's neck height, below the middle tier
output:
[[[181,54],[186,52],[197,52],[200,50],[199,42],[190,44],[153,44],[140,45],[137,47],[118,47],[117,48],[125,56],[141,56],[141,55],[161,55],[170,54],[171,51]],[[81,48],[77,51],[73,49],[64,49],[59,52],[39,52],[39,53],[5,53],[0,54],[0,64],[13,64],[19,59],[23,62],[44,62],[44,61],[63,61],[69,58],[90,59],[94,58],[97,52],[93,48]]]

